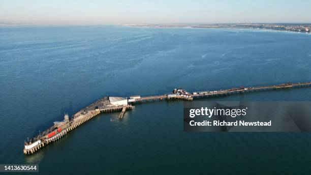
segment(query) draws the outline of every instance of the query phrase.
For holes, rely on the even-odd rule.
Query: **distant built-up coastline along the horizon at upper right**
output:
[[[311,33],[311,23],[222,23],[222,24],[124,24],[136,27],[192,27],[192,28],[257,28],[277,31]]]

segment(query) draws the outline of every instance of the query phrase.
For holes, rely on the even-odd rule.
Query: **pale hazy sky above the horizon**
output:
[[[311,0],[0,0],[0,22],[35,24],[311,22]]]

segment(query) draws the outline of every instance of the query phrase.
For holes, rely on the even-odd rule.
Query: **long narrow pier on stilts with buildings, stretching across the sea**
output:
[[[24,154],[34,154],[46,145],[54,142],[61,137],[64,137],[67,133],[71,132],[75,128],[82,125],[84,122],[94,118],[102,112],[121,111],[119,119],[123,118],[126,110],[132,109],[133,105],[139,102],[155,101],[155,100],[187,100],[192,101],[194,98],[199,97],[214,97],[214,96],[225,96],[236,93],[248,93],[254,91],[265,91],[265,90],[278,90],[278,89],[289,89],[310,86],[311,82],[298,82],[298,83],[283,83],[278,85],[267,85],[267,86],[256,86],[256,87],[239,87],[232,88],[229,90],[218,90],[218,91],[201,91],[189,93],[183,89],[174,89],[172,94],[158,95],[158,96],[131,96],[130,98],[120,97],[104,97],[95,103],[81,109],[71,118],[68,114],[65,114],[64,120],[60,122],[54,122],[54,125],[48,128],[46,131],[40,133],[38,136],[25,141],[24,143]]]

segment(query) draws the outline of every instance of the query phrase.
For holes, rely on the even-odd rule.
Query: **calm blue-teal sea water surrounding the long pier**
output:
[[[308,174],[310,133],[185,133],[180,101],[85,123],[35,155],[23,142],[109,96],[311,81],[311,35],[121,26],[0,28],[0,164],[42,174]],[[310,101],[311,89],[216,99]]]

